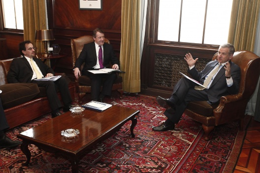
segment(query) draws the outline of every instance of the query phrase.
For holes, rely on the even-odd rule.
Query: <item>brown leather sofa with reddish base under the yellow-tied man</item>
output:
[[[9,127],[13,128],[51,112],[44,87],[36,84],[8,84],[6,80],[11,59],[0,60],[0,98]],[[59,74],[60,75],[60,74]],[[74,100],[74,85],[69,92]],[[58,93],[61,100],[61,95]]]

